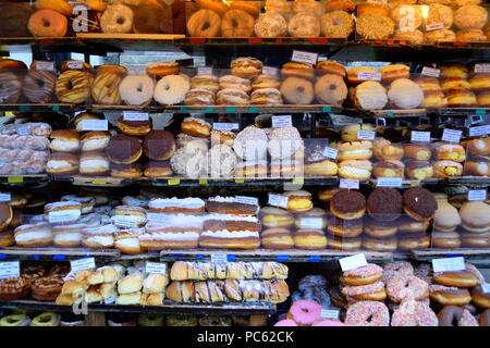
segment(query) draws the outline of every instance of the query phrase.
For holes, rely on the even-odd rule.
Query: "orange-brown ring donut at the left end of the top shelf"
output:
[[[66,35],[68,20],[52,10],[39,10],[30,15],[27,28],[39,37],[62,37]]]

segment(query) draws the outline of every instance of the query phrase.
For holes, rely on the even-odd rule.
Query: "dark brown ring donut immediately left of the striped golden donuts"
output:
[[[45,103],[51,100],[57,78],[51,72],[29,70],[24,77],[22,91],[30,102]]]

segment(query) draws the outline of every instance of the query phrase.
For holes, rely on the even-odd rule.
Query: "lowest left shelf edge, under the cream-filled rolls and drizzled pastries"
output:
[[[22,308],[38,311],[72,312],[72,306],[59,306],[52,301],[37,301],[21,299],[15,301],[0,301],[0,308]],[[82,304],[75,306],[82,309]],[[268,315],[275,313],[275,304],[269,302],[238,302],[238,303],[213,303],[213,304],[187,304],[164,300],[163,306],[117,306],[117,304],[87,304],[88,312],[105,313],[162,313],[162,314],[216,314],[216,315]]]

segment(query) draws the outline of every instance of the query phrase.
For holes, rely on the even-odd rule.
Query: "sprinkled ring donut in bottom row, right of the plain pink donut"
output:
[[[381,302],[356,302],[347,309],[344,324],[346,326],[389,326],[390,312]]]

